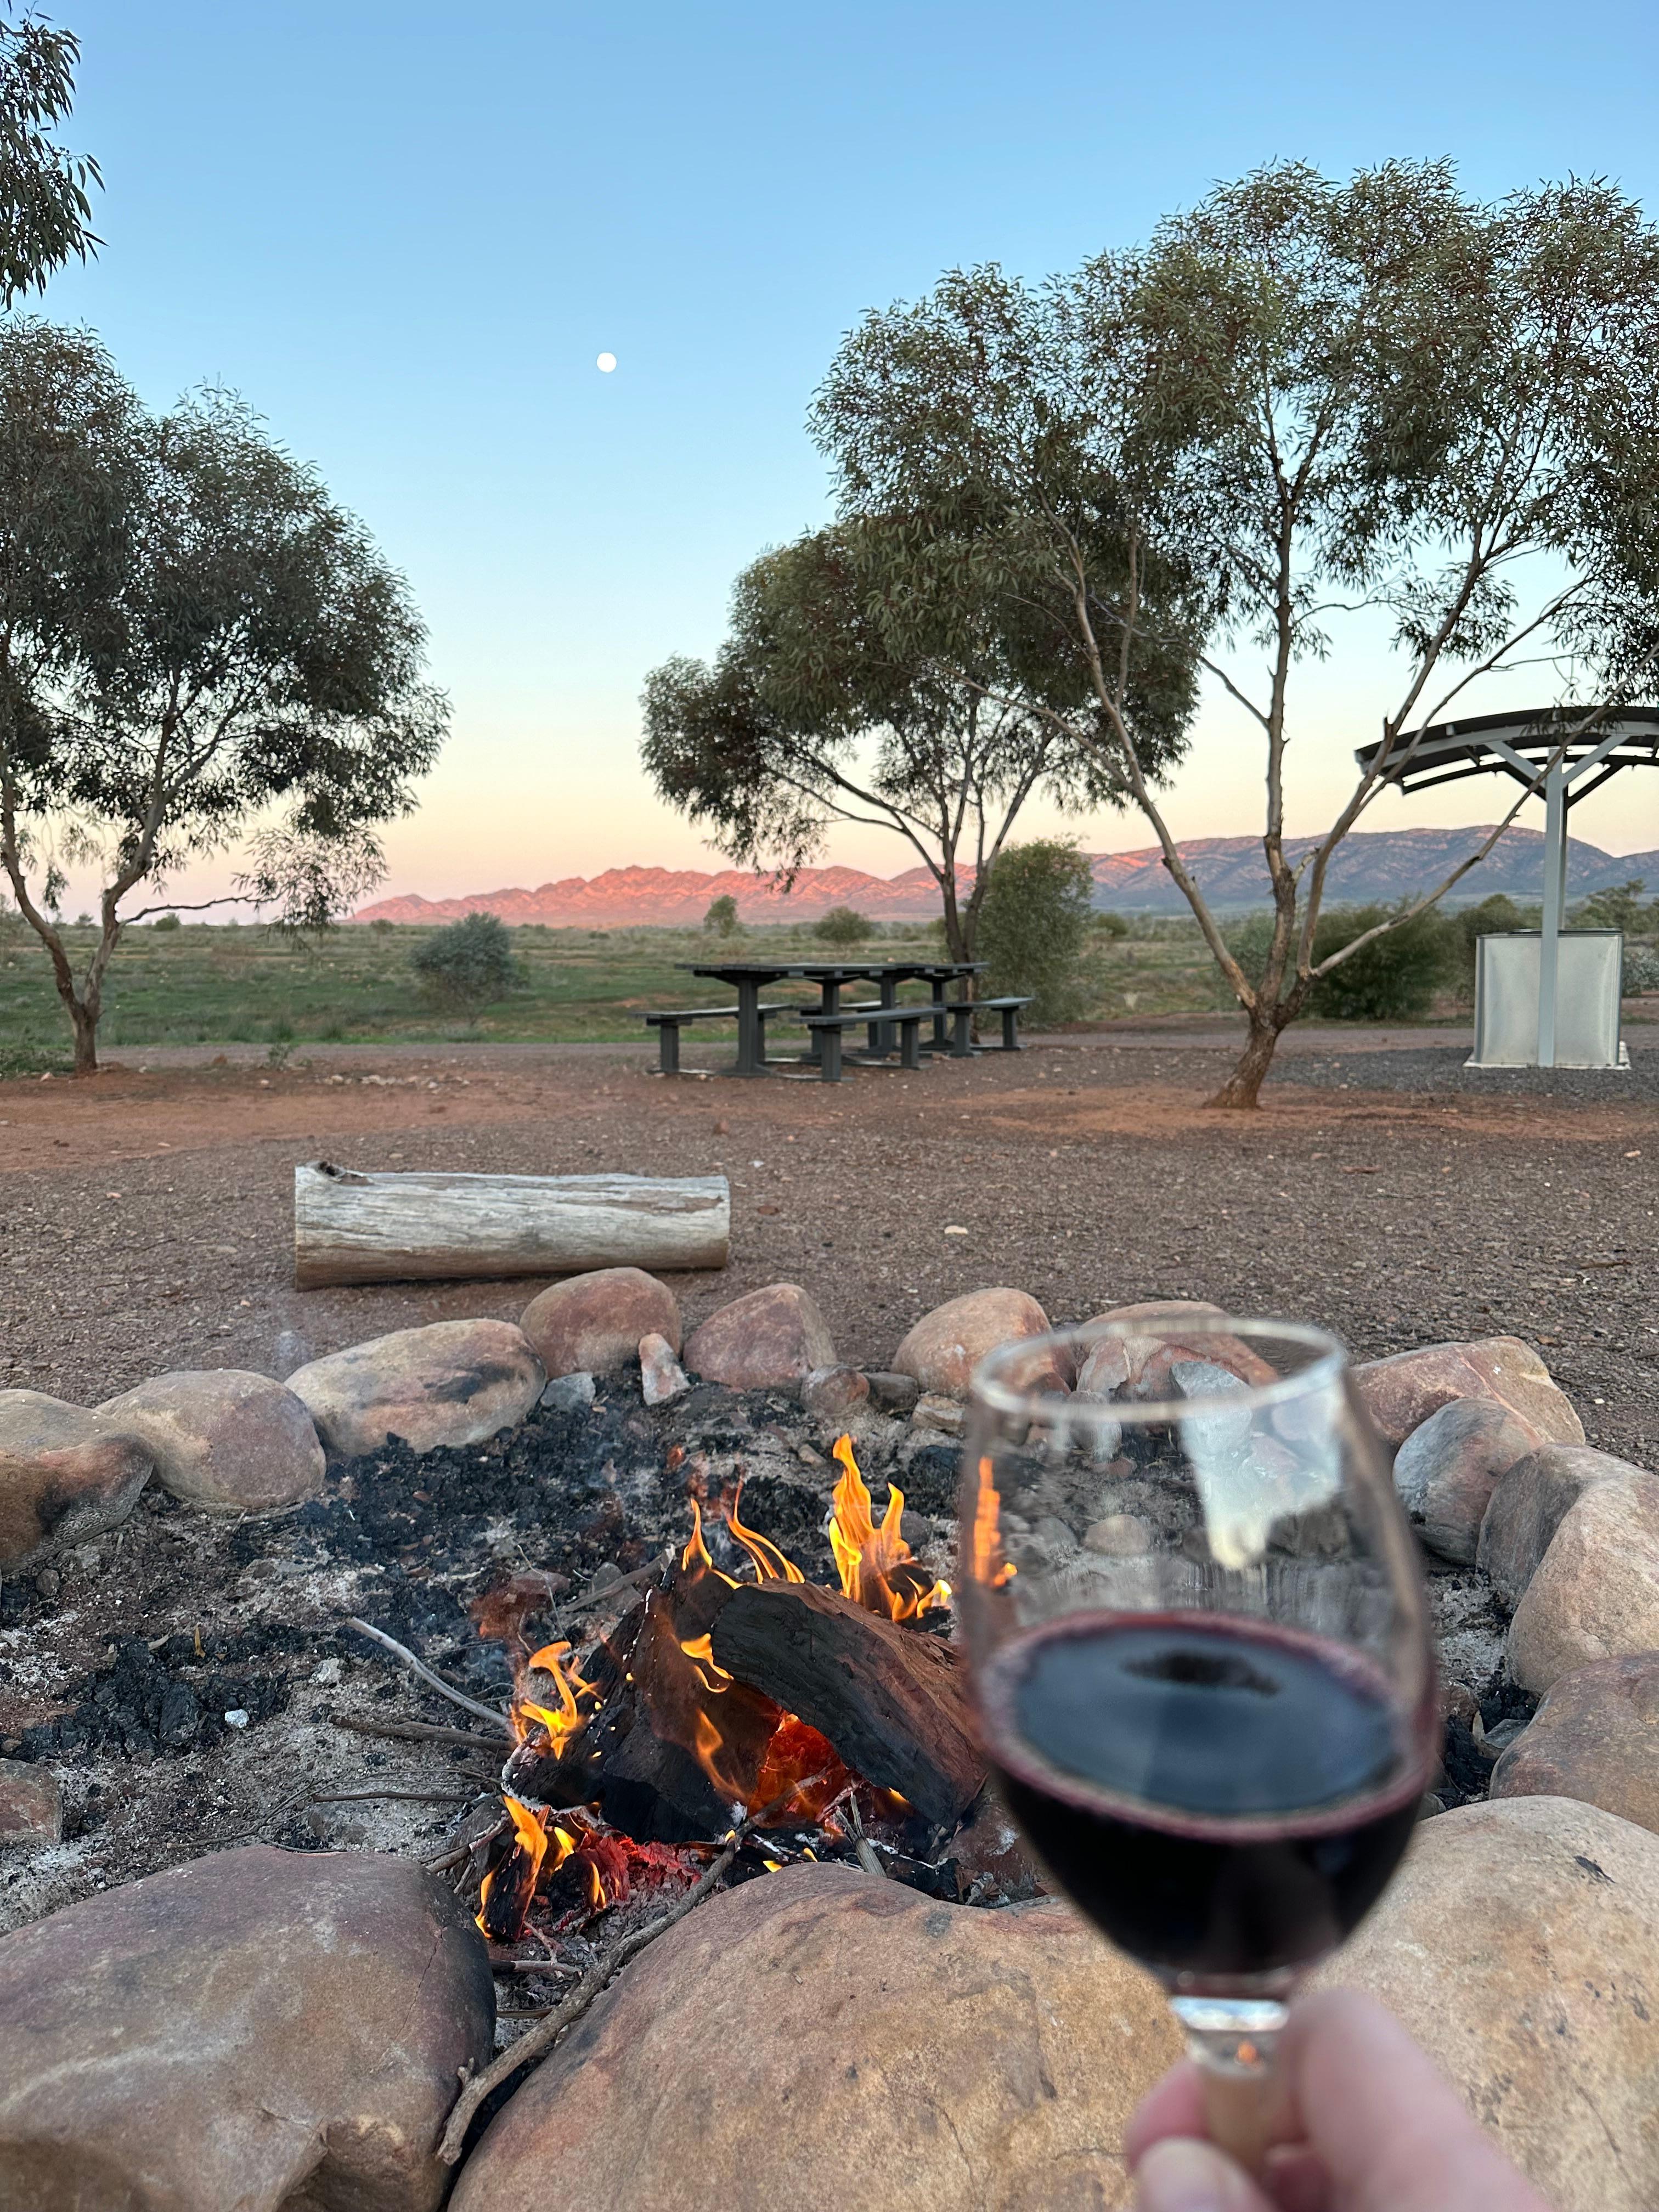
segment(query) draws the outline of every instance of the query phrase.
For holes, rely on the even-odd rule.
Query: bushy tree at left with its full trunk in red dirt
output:
[[[403,577],[248,407],[153,416],[93,338],[0,330],[0,867],[77,1073],[142,887],[246,843],[246,896],[316,927],[376,880],[445,732],[422,648]],[[69,867],[102,876],[80,969]]]

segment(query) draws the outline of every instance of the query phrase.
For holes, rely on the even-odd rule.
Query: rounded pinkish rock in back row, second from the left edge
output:
[[[316,1498],[327,1464],[307,1407],[270,1376],[179,1369],[106,1398],[102,1427],[139,1436],[155,1480],[210,1513],[268,1513]]]

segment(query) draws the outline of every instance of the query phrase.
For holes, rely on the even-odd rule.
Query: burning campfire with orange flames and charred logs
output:
[[[834,1455],[838,1593],[743,1524],[741,1480],[710,1498],[692,1471],[684,1548],[606,1637],[531,1652],[520,1630],[478,1907],[491,1942],[688,1887],[732,1838],[754,1871],[929,1871],[982,1783],[953,1650],[931,1632],[951,1593],[911,1557],[902,1491],[876,1520],[852,1438]]]

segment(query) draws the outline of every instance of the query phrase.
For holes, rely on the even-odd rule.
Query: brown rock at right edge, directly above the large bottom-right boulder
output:
[[[1491,1794],[1582,1798],[1659,1834],[1659,1652],[1562,1674],[1498,1761]]]

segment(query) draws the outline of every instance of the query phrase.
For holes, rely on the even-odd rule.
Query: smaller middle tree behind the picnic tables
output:
[[[1190,666],[1148,653],[1124,712],[1139,759],[1179,754]],[[933,876],[945,938],[973,958],[989,867],[1026,803],[1121,803],[1071,637],[987,599],[971,549],[860,515],[761,555],[712,666],[646,681],[657,790],[739,865],[792,878],[834,823],[889,830]]]

